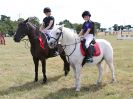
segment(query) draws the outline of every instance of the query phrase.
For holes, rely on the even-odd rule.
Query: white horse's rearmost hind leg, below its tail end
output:
[[[116,78],[115,78],[115,69],[114,69],[114,64],[113,64],[113,59],[111,59],[111,61],[109,60],[105,60],[106,63],[108,64],[110,70],[111,70],[111,73],[112,73],[112,83],[113,82],[116,82]]]

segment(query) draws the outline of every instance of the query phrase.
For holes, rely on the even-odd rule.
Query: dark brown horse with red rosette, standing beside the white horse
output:
[[[30,51],[35,65],[35,82],[38,81],[38,63],[40,60],[42,63],[43,83],[46,83],[46,59],[54,56],[52,55],[53,53],[51,53],[52,49],[50,49],[47,44],[45,35],[42,34],[34,25],[28,22],[28,20],[29,19],[18,24],[17,31],[14,35],[14,41],[20,42],[23,37],[26,35],[28,36],[31,45]],[[44,42],[44,48],[40,46],[39,37],[41,37]],[[65,52],[62,52],[60,57],[64,61],[64,71],[66,76],[70,71],[70,65],[66,60]]]

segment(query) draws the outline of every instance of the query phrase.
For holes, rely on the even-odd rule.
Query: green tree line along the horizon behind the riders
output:
[[[24,20],[23,18],[19,18],[15,21],[12,21],[10,17],[8,17],[6,15],[1,15],[1,18],[0,18],[0,32],[3,33],[4,35],[12,36],[15,33],[16,29],[17,29],[18,23],[23,21],[23,20]],[[35,16],[30,17],[30,22],[38,28],[41,25],[39,19]],[[82,28],[82,24],[71,23],[67,19],[59,22],[59,25],[62,25],[62,24],[64,24],[64,26],[67,27],[67,28],[71,28],[71,29],[76,30],[77,33],[79,33],[81,28]],[[94,26],[95,26],[94,27],[95,32],[106,30],[105,28],[101,28],[101,24],[99,22],[94,22]],[[112,27],[113,27],[114,31],[118,31],[120,29],[123,30],[125,28],[130,29],[131,25],[126,25],[126,26],[120,25],[119,26],[117,24],[114,24],[114,26],[112,26]]]

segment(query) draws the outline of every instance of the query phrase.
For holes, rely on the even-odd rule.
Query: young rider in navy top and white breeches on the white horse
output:
[[[90,20],[91,14],[89,11],[84,11],[82,13],[82,18],[85,20],[85,22],[82,25],[82,29],[79,33],[79,36],[82,36],[84,38],[85,47],[86,49],[89,48],[91,41],[94,39],[95,33],[94,33],[94,22]],[[92,51],[87,50],[87,58],[86,61],[93,62],[93,53]]]

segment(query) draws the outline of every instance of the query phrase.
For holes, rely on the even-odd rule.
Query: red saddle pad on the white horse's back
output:
[[[93,39],[88,48],[85,46],[85,40],[80,43],[80,50],[83,56],[87,56],[91,52],[92,56],[100,55],[99,44]]]

